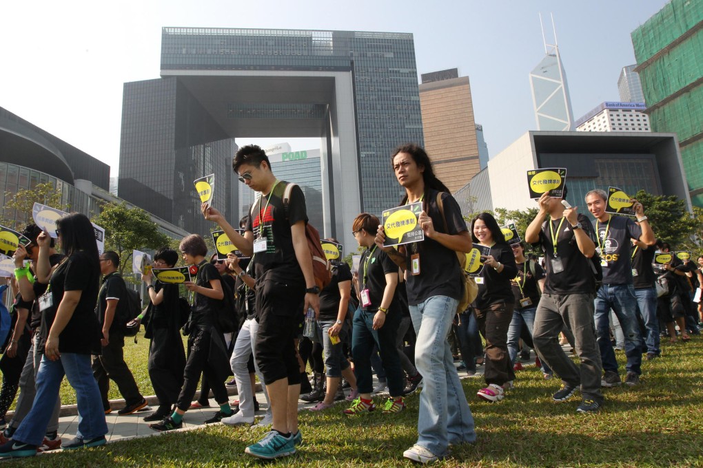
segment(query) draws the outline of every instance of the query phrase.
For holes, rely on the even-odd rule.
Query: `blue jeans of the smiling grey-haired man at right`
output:
[[[610,309],[613,309],[625,334],[626,369],[637,375],[642,373],[643,341],[637,321],[637,297],[631,284],[603,284],[595,296],[595,333],[603,370],[617,372],[615,352],[610,342]]]

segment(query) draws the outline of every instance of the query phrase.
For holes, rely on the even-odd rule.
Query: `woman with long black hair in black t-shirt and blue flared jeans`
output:
[[[101,326],[94,309],[100,286],[98,246],[90,220],[80,213],[60,218],[56,234],[66,258],[53,270],[49,290],[39,297],[43,352],[37,373],[37,395],[32,410],[13,439],[0,446],[0,457],[29,457],[37,453],[49,424],[65,375],[76,391],[78,431],[64,449],[96,447],[105,443],[108,425],[98,382],[93,378],[91,354],[101,349]],[[37,270],[48,275],[50,239],[39,234]]]

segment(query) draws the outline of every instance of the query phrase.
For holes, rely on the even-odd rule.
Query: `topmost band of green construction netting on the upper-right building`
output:
[[[703,1],[672,0],[632,32],[638,63],[648,60],[703,20]]]

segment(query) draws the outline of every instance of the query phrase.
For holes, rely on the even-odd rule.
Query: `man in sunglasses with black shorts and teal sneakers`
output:
[[[205,219],[217,222],[245,255],[254,255],[256,309],[259,330],[256,359],[269,392],[272,430],[245,453],[273,459],[295,453],[302,441],[298,430],[297,401],[300,373],[295,351],[295,333],[303,312],[312,307],[319,313],[320,288],[316,286],[312,260],[305,237],[307,210],[300,187],[292,187],[283,203],[287,182],[276,179],[266,153],[256,145],[239,149],[232,162],[241,182],[260,192],[252,203],[244,235],[203,204]]]

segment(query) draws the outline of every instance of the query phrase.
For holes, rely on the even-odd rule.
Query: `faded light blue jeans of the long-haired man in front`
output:
[[[418,445],[445,455],[449,443],[476,440],[474,418],[454,367],[447,335],[458,301],[432,296],[410,306],[418,336],[415,366],[423,375],[418,415]]]

